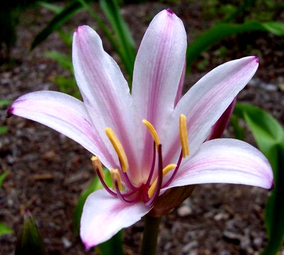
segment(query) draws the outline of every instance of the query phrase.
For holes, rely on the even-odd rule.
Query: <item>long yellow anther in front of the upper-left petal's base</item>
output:
[[[120,141],[118,140],[118,138],[116,137],[116,135],[114,134],[113,130],[110,127],[107,127],[105,129],[105,132],[108,136],[108,138],[110,139],[116,153],[119,159],[119,162],[121,164],[121,168],[123,172],[126,172],[126,170],[128,169],[129,165],[128,165],[128,160],[125,154],[125,151],[120,143]]]

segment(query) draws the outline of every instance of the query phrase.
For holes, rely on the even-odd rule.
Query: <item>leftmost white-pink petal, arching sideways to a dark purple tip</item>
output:
[[[37,91],[16,99],[8,111],[51,127],[99,156],[107,167],[115,166],[82,101],[56,91]]]

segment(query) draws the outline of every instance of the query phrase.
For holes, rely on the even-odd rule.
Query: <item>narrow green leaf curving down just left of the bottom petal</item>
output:
[[[110,171],[108,169],[104,169],[104,173],[105,173],[105,182],[108,186],[111,186],[112,184],[112,180],[111,180],[111,174]],[[101,185],[101,182],[98,178],[98,176],[96,175],[94,177],[94,180],[92,181],[91,185],[82,192],[81,196],[78,199],[78,203],[75,207],[74,210],[74,216],[73,216],[73,232],[75,235],[79,235],[79,228],[80,228],[80,220],[81,220],[81,215],[83,212],[83,207],[85,204],[85,201],[87,199],[87,197],[94,192],[95,190],[100,190],[104,188]]]

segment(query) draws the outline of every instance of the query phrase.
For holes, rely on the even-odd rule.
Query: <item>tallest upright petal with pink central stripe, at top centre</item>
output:
[[[170,10],[158,13],[142,39],[134,65],[132,95],[139,118],[147,119],[158,134],[172,113],[186,54],[183,22]],[[143,167],[147,180],[152,139],[144,129]]]

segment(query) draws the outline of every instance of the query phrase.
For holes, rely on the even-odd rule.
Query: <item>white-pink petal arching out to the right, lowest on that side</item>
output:
[[[214,139],[201,144],[167,187],[202,183],[233,183],[270,189],[273,172],[268,160],[250,144],[236,139]]]

